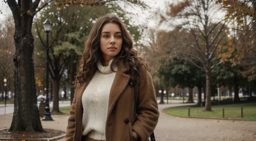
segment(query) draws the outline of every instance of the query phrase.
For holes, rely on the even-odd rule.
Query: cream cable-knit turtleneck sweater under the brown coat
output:
[[[87,135],[95,140],[106,140],[107,108],[110,89],[115,77],[115,72],[110,69],[112,61],[113,59],[110,60],[108,66],[98,63],[98,69],[82,95],[84,129],[82,135]],[[115,71],[117,71],[117,67]]]

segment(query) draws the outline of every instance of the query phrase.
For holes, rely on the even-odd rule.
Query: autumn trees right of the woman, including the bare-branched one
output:
[[[152,29],[144,47],[145,57],[154,67],[157,89],[196,86],[205,95],[203,105],[208,111],[217,87],[234,92],[233,103],[241,102],[240,88],[252,100],[255,2],[183,0],[166,4],[166,10],[159,9],[155,15],[159,25],[171,30]],[[217,13],[224,16],[216,17]],[[193,102],[192,94],[190,90],[188,102]],[[198,94],[198,105],[201,102]]]

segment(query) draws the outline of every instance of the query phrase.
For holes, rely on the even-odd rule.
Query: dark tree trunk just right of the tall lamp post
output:
[[[56,79],[53,80],[53,110],[51,110],[51,113],[61,113],[59,111],[59,81]]]

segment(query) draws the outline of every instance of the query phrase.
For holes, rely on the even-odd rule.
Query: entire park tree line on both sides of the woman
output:
[[[53,23],[49,44],[53,113],[61,113],[59,89],[65,90],[72,85],[90,28],[98,17],[106,14],[118,15],[126,24],[135,48],[152,68],[156,91],[167,90],[168,94],[171,88],[189,88],[188,102],[193,102],[193,88],[197,87],[198,93],[203,92],[205,98],[202,100],[201,94],[198,94],[197,104],[205,105],[208,111],[211,110],[211,96],[217,93],[216,87],[226,88],[231,93],[234,91],[234,103],[241,102],[239,88],[247,90],[250,100],[253,99],[256,61],[256,3],[253,0],[167,2],[167,9],[156,11],[153,17],[158,18],[160,27],[168,27],[169,30],[149,29],[146,25],[135,24],[131,20],[135,15],[118,2],[101,0],[70,5],[70,1],[40,3],[36,0],[23,3],[7,0],[13,19],[6,19],[0,28],[3,34],[0,37],[0,53],[3,56],[0,62],[3,63],[1,78],[8,77],[10,90],[16,93],[14,115],[26,112],[33,115],[24,115],[24,120],[31,121],[28,126],[22,124],[23,119],[14,116],[11,131],[43,131],[35,99],[40,90],[44,92],[46,83],[46,33],[42,25],[45,19]],[[148,8],[142,1],[125,2],[142,9]],[[218,12],[224,13],[224,16],[216,18]],[[11,20],[14,22],[8,23]],[[72,100],[73,87],[70,91]],[[163,93],[161,96],[163,100]]]

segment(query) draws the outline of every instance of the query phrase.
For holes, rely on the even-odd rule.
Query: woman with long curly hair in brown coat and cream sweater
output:
[[[65,141],[147,140],[159,117],[152,77],[117,16],[97,20],[79,66]]]

